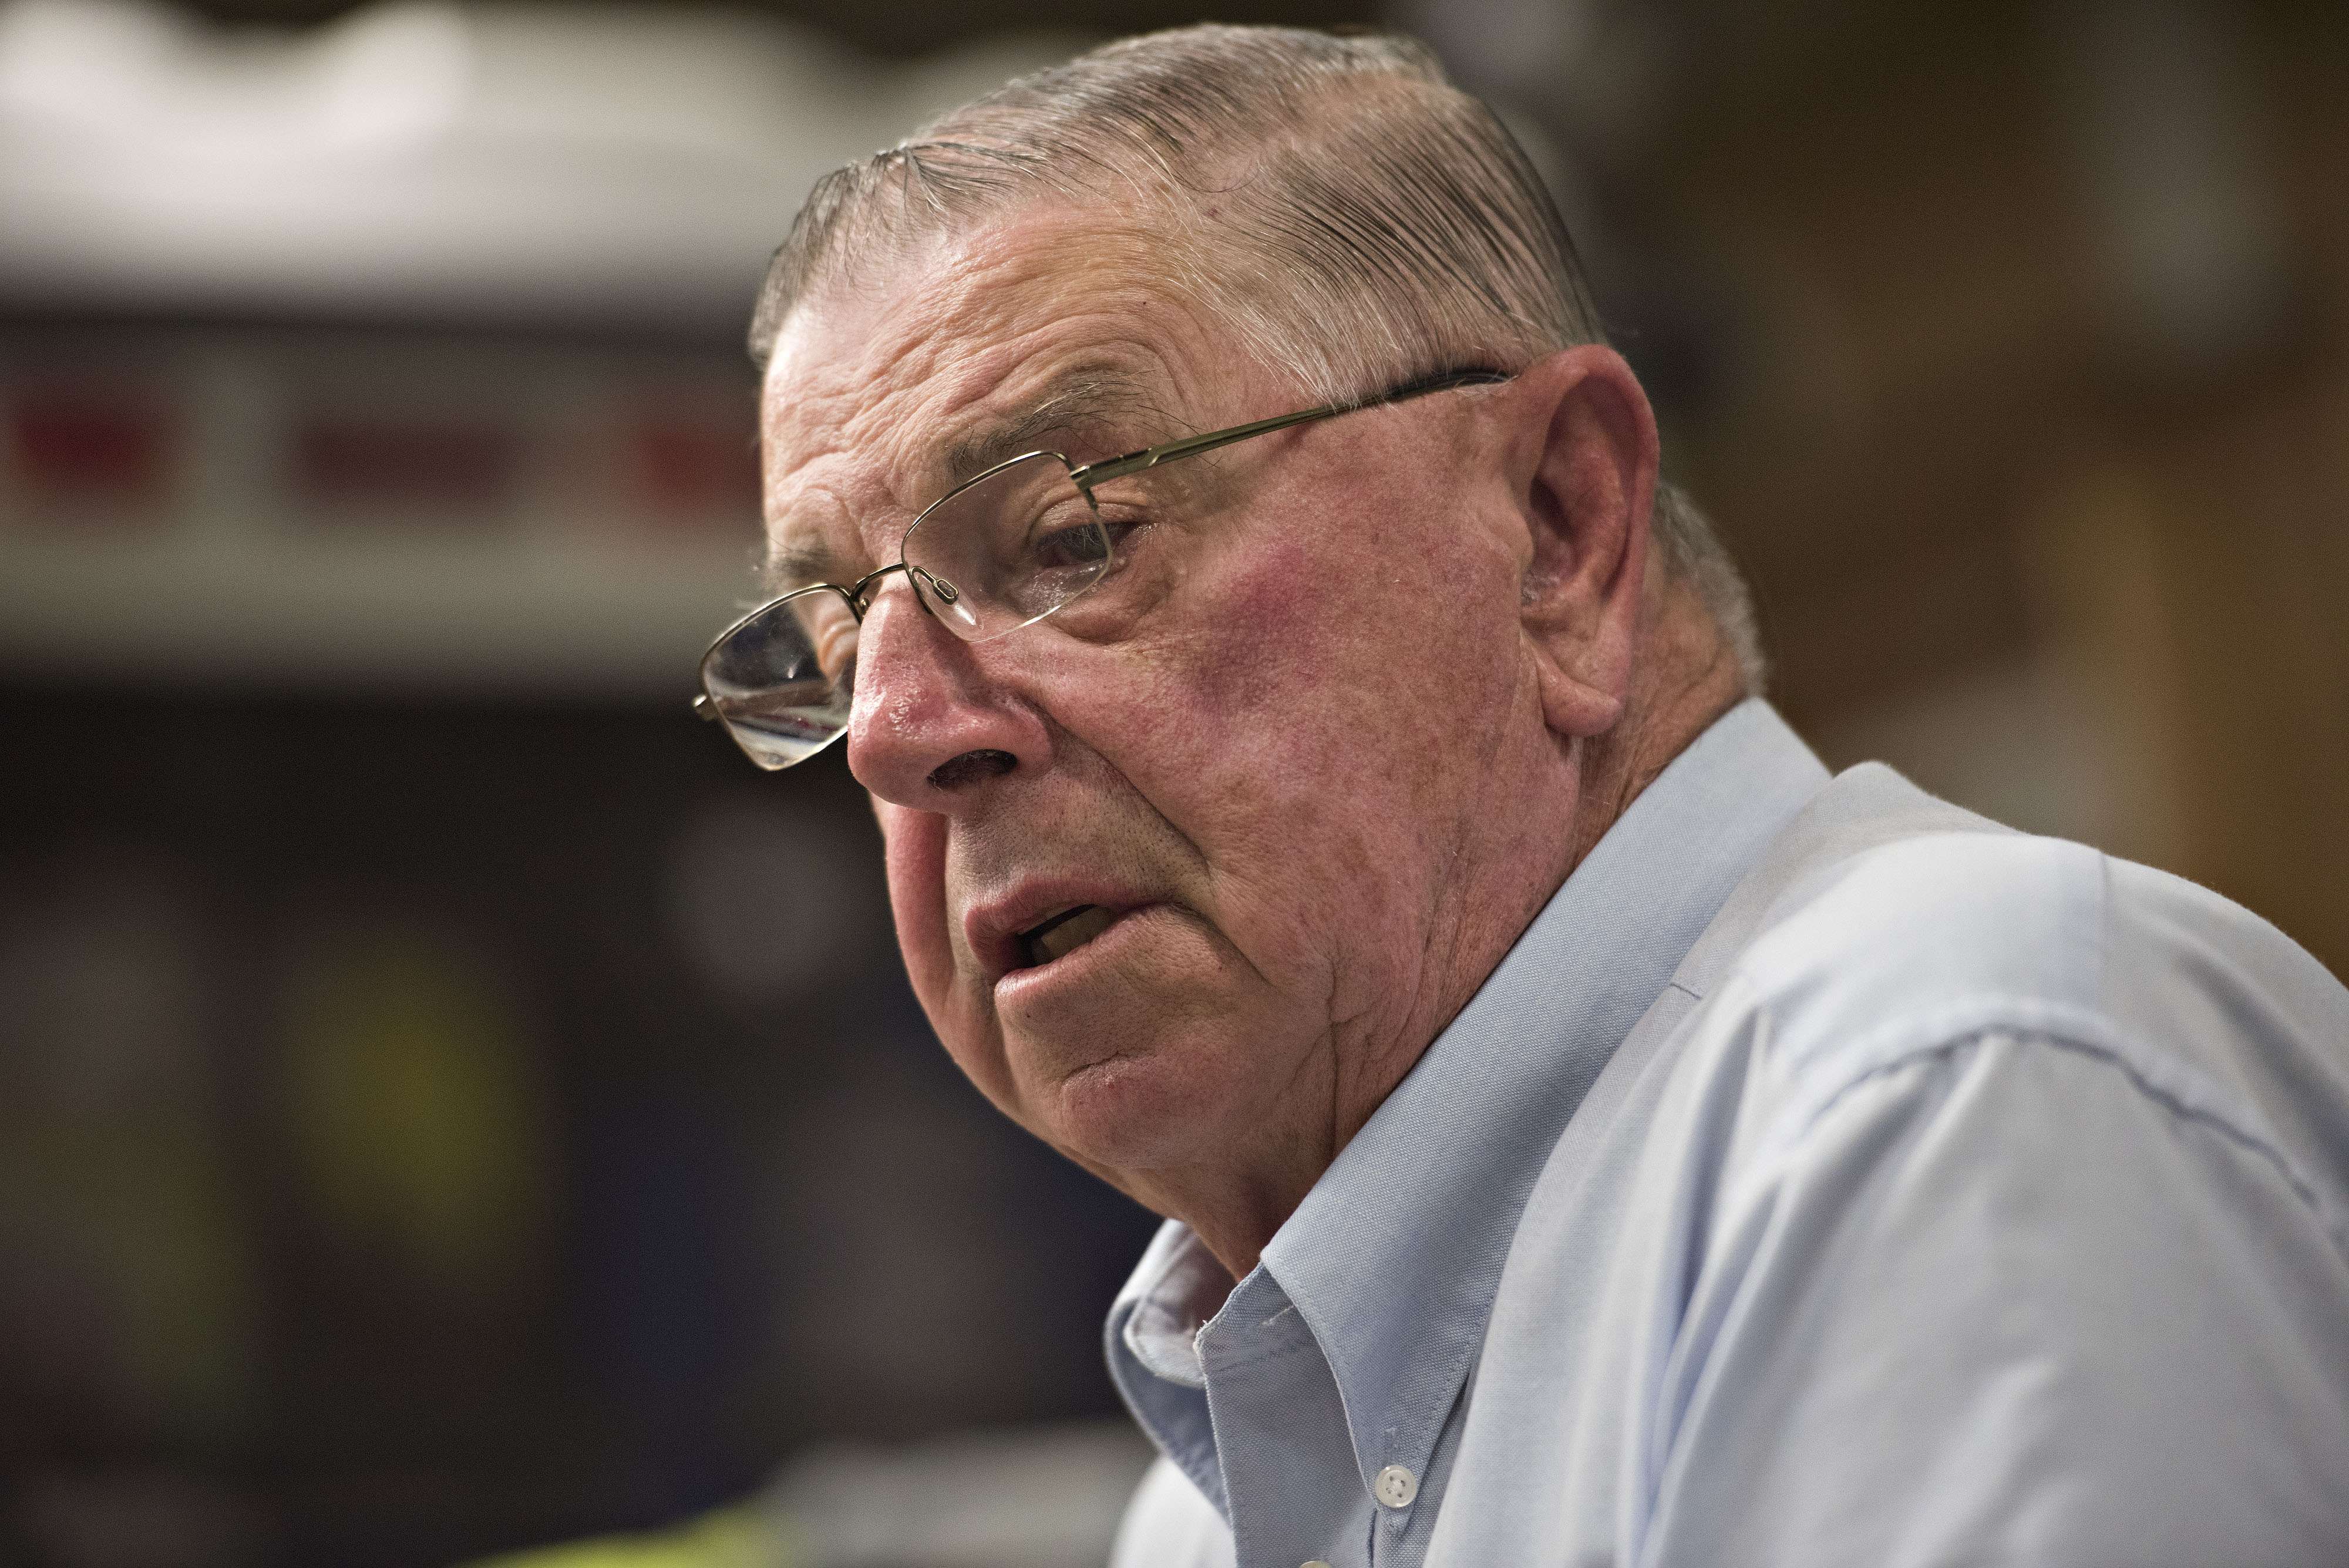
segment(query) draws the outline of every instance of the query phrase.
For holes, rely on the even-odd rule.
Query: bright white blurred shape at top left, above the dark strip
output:
[[[731,326],[820,174],[1078,45],[886,66],[686,7],[263,33],[5,0],[0,303]]]

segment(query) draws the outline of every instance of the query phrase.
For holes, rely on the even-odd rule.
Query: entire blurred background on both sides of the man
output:
[[[1506,108],[1830,763],[2349,967],[2349,9],[1217,14]],[[1097,1549],[1149,1216],[686,699],[808,183],[1191,19],[0,0],[0,1563]]]

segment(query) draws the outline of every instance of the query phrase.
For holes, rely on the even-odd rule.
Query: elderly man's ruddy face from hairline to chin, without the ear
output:
[[[1146,258],[1031,209],[806,303],[763,394],[778,556],[897,561],[949,453],[1015,425],[1085,462],[1304,401]],[[963,643],[904,577],[864,620],[848,763],[914,988],[998,1108],[1144,1202],[1320,1169],[1555,885],[1470,897],[1557,761],[1485,397],[1163,469],[1116,627]]]

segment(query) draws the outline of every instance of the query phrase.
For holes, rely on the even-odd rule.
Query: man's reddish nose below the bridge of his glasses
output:
[[[991,681],[989,660],[928,615],[914,584],[874,596],[857,631],[848,770],[864,789],[923,812],[970,810],[991,779],[1043,761],[1045,728]]]

